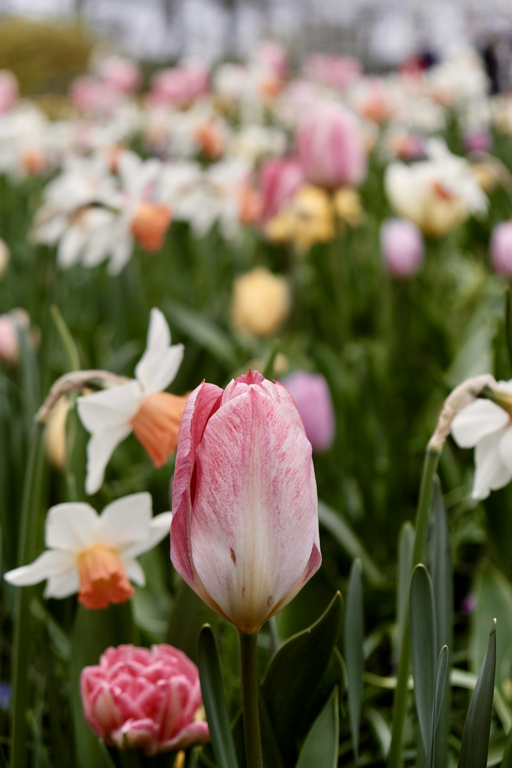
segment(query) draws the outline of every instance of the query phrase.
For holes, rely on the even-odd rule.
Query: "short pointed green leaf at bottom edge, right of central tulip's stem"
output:
[[[332,691],[300,750],[296,768],[336,768],[339,750],[338,688]]]

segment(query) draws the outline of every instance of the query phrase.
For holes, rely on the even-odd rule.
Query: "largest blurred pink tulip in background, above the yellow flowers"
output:
[[[306,179],[319,187],[360,184],[366,153],[357,118],[341,104],[319,104],[303,121],[298,135],[299,159]]]

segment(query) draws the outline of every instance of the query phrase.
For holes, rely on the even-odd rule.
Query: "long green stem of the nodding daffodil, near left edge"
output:
[[[18,538],[18,566],[26,565],[35,557],[38,537],[38,508],[43,466],[43,425],[35,422],[31,436],[30,454],[25,475],[21,503]],[[30,601],[32,588],[21,588],[16,594],[15,630],[12,665],[12,768],[25,768],[25,737],[27,733],[28,664],[30,660]]]

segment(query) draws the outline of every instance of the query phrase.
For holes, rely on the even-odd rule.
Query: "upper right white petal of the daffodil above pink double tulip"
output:
[[[109,504],[101,513],[98,531],[101,543],[121,549],[145,541],[150,531],[152,507],[149,493],[134,493]]]

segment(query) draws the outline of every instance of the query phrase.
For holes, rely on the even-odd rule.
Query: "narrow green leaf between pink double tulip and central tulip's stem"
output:
[[[210,624],[205,624],[200,631],[198,667],[206,720],[217,765],[219,768],[236,768],[238,762],[226,705],[219,647]]]

